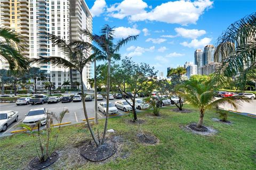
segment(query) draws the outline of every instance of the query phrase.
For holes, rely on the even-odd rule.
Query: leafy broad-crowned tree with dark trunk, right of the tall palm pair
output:
[[[157,72],[154,71],[154,67],[150,67],[146,63],[137,64],[127,57],[122,60],[120,66],[115,66],[115,68],[113,82],[118,87],[118,91],[121,94],[126,94],[132,101],[131,104],[123,97],[132,107],[133,121],[135,122],[137,120],[135,95],[147,88],[149,82],[156,79]]]

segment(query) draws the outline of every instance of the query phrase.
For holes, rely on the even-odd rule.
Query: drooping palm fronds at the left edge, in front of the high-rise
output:
[[[27,50],[26,42],[10,29],[0,28],[0,62],[7,61],[10,70],[27,71],[29,59],[22,55]]]

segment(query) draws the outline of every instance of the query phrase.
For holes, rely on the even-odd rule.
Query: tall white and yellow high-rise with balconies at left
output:
[[[67,43],[86,41],[89,39],[79,32],[87,29],[92,33],[92,14],[84,0],[1,0],[0,26],[10,28],[27,39],[29,58],[39,56],[60,56],[66,58],[58,46],[46,38],[46,34],[54,34]],[[90,55],[90,53],[88,53]],[[7,66],[4,66],[7,68]],[[70,81],[69,69],[54,67],[50,64],[34,64],[46,70],[55,88],[60,88],[63,81]],[[90,63],[84,68],[83,85],[90,87]],[[73,82],[80,82],[77,70],[72,70]],[[44,82],[38,81],[38,89],[44,89]]]

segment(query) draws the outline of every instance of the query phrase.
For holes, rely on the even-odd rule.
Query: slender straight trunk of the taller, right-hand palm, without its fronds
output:
[[[104,132],[101,140],[101,144],[104,143],[105,141],[105,136],[107,133],[107,128],[108,128],[108,108],[109,108],[109,86],[110,86],[110,62],[111,60],[108,59],[108,77],[107,77],[107,111],[106,111],[106,119],[105,119],[105,127],[104,127]]]

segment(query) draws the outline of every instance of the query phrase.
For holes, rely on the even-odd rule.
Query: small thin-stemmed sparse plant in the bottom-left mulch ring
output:
[[[26,124],[21,124],[20,126],[27,129],[29,131],[29,135],[33,136],[34,147],[37,153],[37,158],[41,162],[45,162],[49,157],[51,157],[55,145],[58,141],[59,132],[60,132],[60,124],[62,122],[63,117],[68,112],[68,110],[63,110],[60,112],[60,116],[57,117],[53,112],[46,113],[46,125],[44,129],[40,129],[41,120],[37,122],[36,125],[29,126]],[[53,135],[53,119],[57,120],[59,127],[57,128],[57,134]]]

